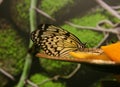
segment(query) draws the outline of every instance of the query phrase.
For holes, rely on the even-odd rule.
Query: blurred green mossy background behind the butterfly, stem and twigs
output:
[[[110,5],[120,5],[120,0],[106,0]],[[0,72],[0,87],[15,87],[23,71],[25,56],[30,41],[31,0],[3,0],[0,3],[0,68],[15,77],[10,80]],[[37,12],[37,25],[40,23],[56,24],[76,35],[87,47],[94,47],[103,38],[103,33],[80,30],[65,23],[70,21],[81,26],[95,27],[101,20],[119,22],[94,0],[38,0],[37,8],[46,12],[57,21],[52,21]],[[116,37],[112,37],[113,41]],[[68,75],[77,63],[33,58],[28,79],[35,84],[55,75]],[[81,65],[79,71],[70,79],[48,81],[38,87],[101,87],[102,80],[115,80],[109,72],[92,69]],[[32,87],[26,84],[25,87]]]

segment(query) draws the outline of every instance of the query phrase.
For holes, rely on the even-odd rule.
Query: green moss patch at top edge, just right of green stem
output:
[[[41,5],[39,5],[38,8],[46,12],[51,17],[57,18],[58,17],[58,15],[56,14],[57,11],[61,10],[68,4],[73,5],[73,3],[74,3],[74,0],[62,0],[62,1],[61,0],[57,0],[57,1],[56,0],[42,0]],[[61,12],[61,14],[63,13],[64,11]],[[43,15],[40,15],[39,22],[40,23],[53,23],[53,21],[48,20],[48,18],[46,18]]]

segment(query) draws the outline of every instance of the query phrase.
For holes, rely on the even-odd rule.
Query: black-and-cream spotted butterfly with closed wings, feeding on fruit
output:
[[[72,33],[51,24],[41,24],[31,33],[34,44],[43,49],[49,56],[64,56],[71,51],[80,51],[85,48]]]

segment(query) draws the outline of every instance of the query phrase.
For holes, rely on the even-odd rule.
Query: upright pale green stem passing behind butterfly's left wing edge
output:
[[[33,9],[37,6],[37,0],[31,0],[31,7],[30,7],[30,31],[36,29],[36,11]],[[30,41],[29,48],[32,46],[32,42]],[[23,68],[23,72],[20,78],[20,81],[17,87],[23,87],[25,84],[25,80],[28,77],[29,70],[31,68],[32,56],[28,53],[25,58],[25,65]]]

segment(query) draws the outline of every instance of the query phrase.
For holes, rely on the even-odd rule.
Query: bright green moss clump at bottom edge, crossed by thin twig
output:
[[[49,79],[49,77],[43,74],[35,74],[30,78],[30,80],[34,82],[35,84],[40,84],[42,81],[46,79]],[[27,86],[27,87],[31,87],[31,86]],[[39,87],[66,87],[66,86],[65,86],[65,83],[62,83],[62,82],[48,81],[44,83],[43,85],[40,85]]]

